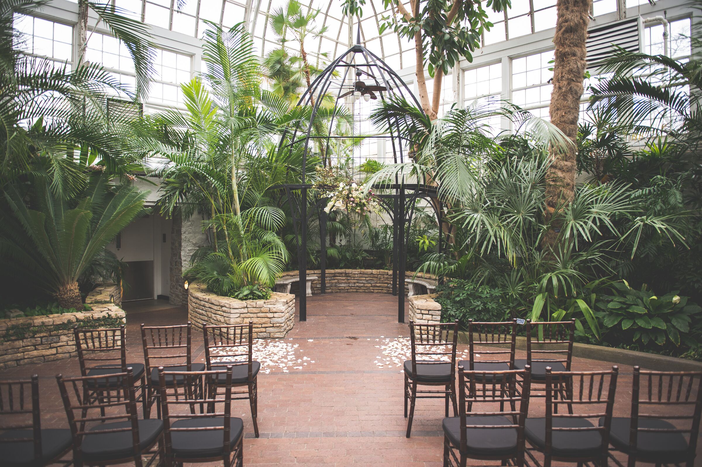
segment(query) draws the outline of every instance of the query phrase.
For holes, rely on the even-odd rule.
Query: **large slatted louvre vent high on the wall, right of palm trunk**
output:
[[[588,70],[595,74],[604,60],[611,58],[612,46],[630,52],[641,51],[640,18],[631,18],[593,27],[588,31]]]

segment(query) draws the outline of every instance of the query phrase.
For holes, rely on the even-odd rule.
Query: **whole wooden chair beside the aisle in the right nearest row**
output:
[[[444,419],[444,467],[465,467],[468,459],[524,465],[524,423],[529,412],[530,368],[464,371],[458,366],[457,417]],[[519,376],[527,390],[519,395]],[[505,402],[510,409],[505,412]],[[519,410],[515,409],[519,403]],[[491,410],[499,404],[499,410]],[[473,407],[478,407],[476,412]],[[482,464],[481,464],[482,465]]]

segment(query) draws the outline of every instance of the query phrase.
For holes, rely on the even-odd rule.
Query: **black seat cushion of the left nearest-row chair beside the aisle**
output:
[[[224,418],[180,419],[171,423],[171,428],[200,428],[224,426]],[[232,417],[229,422],[230,448],[241,438],[244,422]],[[179,457],[206,458],[221,456],[224,452],[224,430],[173,431],[171,432],[173,453]]]

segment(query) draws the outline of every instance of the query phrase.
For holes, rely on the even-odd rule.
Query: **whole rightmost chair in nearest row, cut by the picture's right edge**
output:
[[[636,461],[694,466],[702,414],[702,372],[634,367],[631,396],[631,417],[612,419],[609,436],[611,445],[628,456],[628,467],[634,467]],[[623,467],[614,456],[611,459]]]

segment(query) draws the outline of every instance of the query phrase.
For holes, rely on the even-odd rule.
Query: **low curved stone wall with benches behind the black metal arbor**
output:
[[[297,277],[298,271],[283,272],[282,277]],[[307,275],[322,277],[319,269],[307,270]],[[405,272],[405,277],[414,277],[413,271]],[[435,279],[430,274],[420,272],[417,277]],[[299,291],[298,284],[293,284],[291,293]],[[404,284],[404,293],[407,294],[407,284]],[[392,271],[384,269],[328,269],[326,270],[326,293],[336,292],[375,292],[379,294],[392,294]],[[312,295],[322,293],[321,279],[312,281]]]

